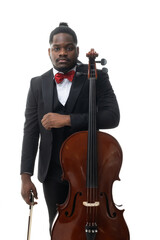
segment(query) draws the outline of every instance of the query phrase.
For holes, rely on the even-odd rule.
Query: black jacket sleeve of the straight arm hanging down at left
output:
[[[32,80],[28,92],[24,136],[22,144],[21,174],[24,172],[33,175],[36,153],[39,140],[39,125],[37,113],[37,100],[33,91]]]

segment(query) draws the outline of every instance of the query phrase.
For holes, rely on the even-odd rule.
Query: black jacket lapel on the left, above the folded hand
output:
[[[42,75],[42,95],[45,114],[53,110],[53,69]]]

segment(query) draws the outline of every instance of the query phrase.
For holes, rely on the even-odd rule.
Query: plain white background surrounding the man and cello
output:
[[[49,70],[48,38],[66,21],[79,40],[79,59],[95,48],[107,67],[121,110],[118,128],[121,182],[113,196],[123,204],[131,240],[160,239],[159,231],[159,63],[160,9],[157,0],[41,1],[0,4],[0,219],[3,239],[27,236],[28,206],[19,175],[24,109],[30,79]],[[37,168],[37,167],[36,167]],[[48,215],[42,186],[33,210],[31,239],[47,240]]]

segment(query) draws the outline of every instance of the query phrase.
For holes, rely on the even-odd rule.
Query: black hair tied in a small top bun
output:
[[[50,33],[50,36],[49,36],[49,43],[50,44],[52,44],[52,42],[53,42],[53,36],[58,34],[58,33],[68,33],[68,34],[70,34],[73,37],[73,42],[75,44],[77,44],[78,40],[77,40],[76,33],[70,27],[68,27],[68,24],[65,23],[65,22],[61,22],[59,24],[59,27],[55,28]]]

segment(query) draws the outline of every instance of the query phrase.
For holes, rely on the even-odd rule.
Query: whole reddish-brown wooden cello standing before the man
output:
[[[89,80],[88,131],[74,133],[61,147],[63,179],[69,182],[66,201],[58,205],[51,240],[129,240],[129,230],[113,201],[119,180],[122,149],[111,135],[96,127],[96,57],[87,54]]]

